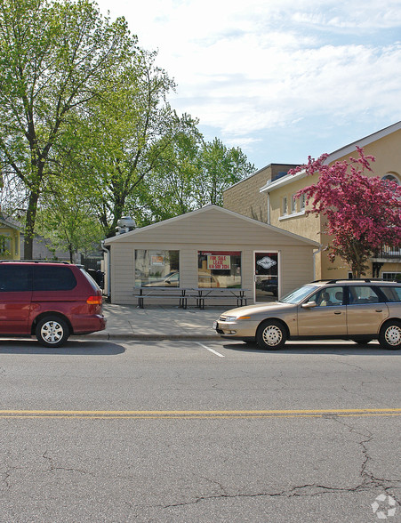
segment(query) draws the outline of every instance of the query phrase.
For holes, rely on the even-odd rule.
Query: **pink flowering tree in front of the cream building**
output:
[[[374,157],[365,156],[360,148],[357,152],[357,158],[333,165],[325,163],[326,154],[317,160],[309,157],[307,165],[291,171],[319,174],[317,183],[295,196],[305,195],[310,204],[307,213],[324,217],[321,232],[332,237],[329,257],[348,263],[354,278],[366,274],[366,261],[383,245],[401,247],[401,188],[395,181],[366,176]]]

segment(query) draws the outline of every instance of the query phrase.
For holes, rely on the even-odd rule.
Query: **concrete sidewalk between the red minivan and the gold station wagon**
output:
[[[219,339],[213,331],[213,321],[221,312],[228,310],[207,308],[179,309],[178,307],[148,306],[105,303],[103,312],[107,319],[106,330],[88,334],[87,338],[98,340],[188,340]]]

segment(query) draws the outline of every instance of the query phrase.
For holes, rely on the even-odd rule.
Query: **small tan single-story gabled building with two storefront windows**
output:
[[[249,303],[275,300],[311,281],[319,244],[207,205],[110,237],[104,247],[112,303],[136,304],[139,289],[151,294],[160,287],[245,289]]]

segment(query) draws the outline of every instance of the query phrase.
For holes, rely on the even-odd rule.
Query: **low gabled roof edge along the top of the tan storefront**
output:
[[[180,214],[180,216],[174,216],[173,218],[169,218],[168,220],[164,221],[158,221],[157,223],[153,223],[152,225],[147,225],[146,227],[141,227],[140,229],[134,229],[130,232],[125,232],[124,234],[120,234],[119,236],[115,237],[109,237],[105,240],[104,245],[110,245],[118,242],[127,242],[127,241],[135,241],[136,237],[144,236],[147,232],[153,231],[157,228],[161,227],[168,227],[169,225],[172,225],[174,223],[179,223],[180,221],[188,221],[189,219],[192,219],[196,216],[198,216],[199,220],[202,219],[202,215],[205,213],[220,213],[222,216],[228,216],[236,220],[245,221],[247,223],[252,224],[255,228],[262,228],[265,230],[269,230],[270,232],[274,234],[278,234],[282,237],[291,238],[296,243],[303,243],[311,246],[318,247],[320,244],[318,242],[315,242],[313,240],[310,240],[306,237],[301,237],[297,234],[294,234],[293,232],[288,232],[285,229],[280,229],[279,227],[274,227],[273,225],[269,225],[268,223],[263,223],[262,221],[253,220],[253,218],[248,218],[248,216],[244,216],[243,214],[234,213],[233,211],[229,211],[229,209],[225,209],[224,207],[220,207],[218,205],[205,205],[205,207],[202,207],[200,209],[197,209],[196,211],[192,211],[190,213]],[[185,223],[182,223],[184,226]],[[216,224],[216,227],[218,226],[218,223]],[[196,239],[195,239],[196,242]],[[194,242],[194,243],[195,243]]]

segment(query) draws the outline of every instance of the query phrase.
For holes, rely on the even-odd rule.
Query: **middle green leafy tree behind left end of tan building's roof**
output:
[[[86,179],[106,236],[114,234],[124,214],[140,205],[142,184],[148,180],[151,185],[164,151],[192,125],[167,103],[175,84],[156,67],[155,59],[155,52],[138,52],[119,76],[115,91],[76,117],[74,170]]]

